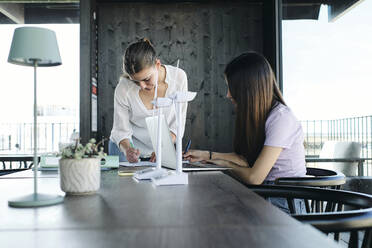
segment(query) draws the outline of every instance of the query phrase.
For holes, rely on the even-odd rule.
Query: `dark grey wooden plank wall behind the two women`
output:
[[[109,137],[113,95],[122,55],[148,37],[164,64],[188,75],[189,104],[184,142],[192,148],[232,151],[235,115],[225,98],[226,63],[246,50],[262,52],[262,5],[254,3],[110,3],[98,6],[98,130]]]

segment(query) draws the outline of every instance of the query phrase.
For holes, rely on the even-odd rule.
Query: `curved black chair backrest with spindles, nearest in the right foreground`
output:
[[[292,216],[311,224],[324,233],[334,233],[339,240],[340,232],[349,232],[349,247],[359,247],[358,231],[365,231],[363,248],[372,247],[372,196],[344,190],[321,189],[313,187],[247,185],[263,197],[284,197]],[[306,207],[306,213],[296,214],[294,199],[321,203],[323,212],[314,213]],[[292,207],[291,207],[292,206]],[[349,209],[344,211],[344,207]]]

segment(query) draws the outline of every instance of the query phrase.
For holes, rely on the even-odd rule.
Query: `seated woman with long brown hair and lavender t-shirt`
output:
[[[229,165],[249,184],[305,176],[302,127],[285,104],[268,61],[256,52],[243,53],[226,66],[225,79],[236,110],[234,152],[190,150],[184,157]]]

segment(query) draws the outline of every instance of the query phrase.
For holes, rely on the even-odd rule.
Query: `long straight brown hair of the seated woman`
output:
[[[256,52],[246,52],[225,68],[231,97],[236,102],[234,151],[253,166],[265,142],[265,123],[282,94],[269,62]]]

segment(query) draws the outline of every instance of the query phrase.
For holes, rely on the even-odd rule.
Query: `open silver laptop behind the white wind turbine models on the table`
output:
[[[163,167],[168,169],[177,169],[177,156],[176,149],[172,142],[172,137],[170,134],[168,123],[165,121],[164,115],[160,118],[160,128],[161,128],[161,164]],[[146,118],[147,130],[149,132],[152,147],[157,154],[157,134],[158,134],[158,116],[147,117]],[[219,166],[215,164],[203,164],[200,162],[190,163],[189,161],[183,161],[182,170],[183,171],[220,171],[229,170],[230,167]]]

